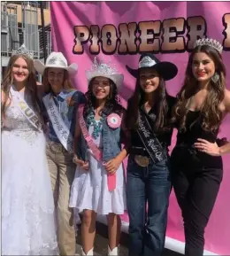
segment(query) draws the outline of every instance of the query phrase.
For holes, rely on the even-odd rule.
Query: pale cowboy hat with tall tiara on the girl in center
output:
[[[121,88],[121,85],[124,81],[124,75],[119,74],[114,65],[112,66],[110,62],[99,62],[99,60],[95,58],[93,64],[91,65],[91,68],[86,71],[86,77],[89,82],[96,76],[103,76],[111,79],[111,81],[113,81],[117,85],[117,89]]]

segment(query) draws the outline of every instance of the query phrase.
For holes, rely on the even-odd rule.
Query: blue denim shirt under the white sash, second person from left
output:
[[[62,119],[64,120],[66,127],[70,129],[72,136],[74,136],[75,123],[76,123],[76,110],[78,109],[78,106],[80,104],[85,103],[84,94],[79,90],[72,89],[72,90],[63,90],[58,94],[58,96],[54,96],[52,92],[51,92],[51,95],[53,96],[55,105],[57,105],[58,112],[60,113]],[[67,99],[70,97],[71,97],[71,100],[74,102],[73,105],[68,105]],[[48,114],[46,113],[45,115],[49,120]],[[58,136],[54,131],[51,121],[49,122],[48,137],[50,141],[60,143]]]

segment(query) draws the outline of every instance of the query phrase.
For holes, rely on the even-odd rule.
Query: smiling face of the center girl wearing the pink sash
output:
[[[110,95],[111,82],[108,78],[97,76],[92,81],[92,91],[96,99],[104,99]]]

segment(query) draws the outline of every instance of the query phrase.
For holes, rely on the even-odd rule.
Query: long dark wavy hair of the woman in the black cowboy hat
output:
[[[167,103],[168,93],[165,88],[165,81],[162,77],[159,78],[159,86],[152,93],[156,94],[156,105],[157,109],[156,121],[153,124],[152,129],[155,131],[165,131],[169,129],[169,120],[167,118],[167,113],[169,106]],[[128,99],[127,111],[126,111],[126,128],[130,130],[135,130],[138,128],[138,109],[144,103],[143,98],[144,91],[140,85],[140,74],[136,79],[134,95]]]

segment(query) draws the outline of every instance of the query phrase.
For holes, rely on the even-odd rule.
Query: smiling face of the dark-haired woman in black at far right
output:
[[[197,52],[192,62],[192,73],[197,81],[210,81],[215,74],[214,61],[204,52]]]

